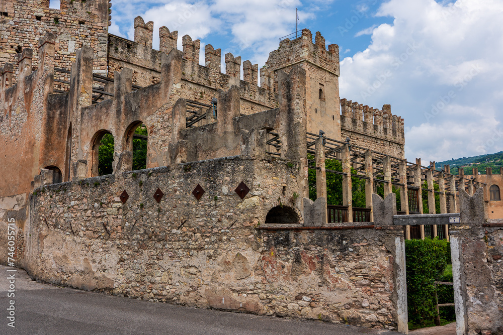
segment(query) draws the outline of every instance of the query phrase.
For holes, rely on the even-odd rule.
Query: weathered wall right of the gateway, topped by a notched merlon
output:
[[[450,229],[457,333],[491,335],[503,330],[503,227],[486,222],[482,188],[459,193],[461,224]]]

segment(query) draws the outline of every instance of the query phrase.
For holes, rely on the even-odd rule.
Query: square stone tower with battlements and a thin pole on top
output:
[[[319,130],[325,136],[340,140],[340,99],[339,99],[339,46],[331,44],[325,49],[325,39],[316,33],[313,43],[312,34],[308,29],[302,30],[302,35],[294,40],[285,39],[280,47],[269,54],[266,62],[266,72],[274,72],[274,91],[277,92],[277,72],[290,70],[300,64],[307,75],[306,107],[307,130],[318,134]],[[267,78],[262,78],[267,81]]]

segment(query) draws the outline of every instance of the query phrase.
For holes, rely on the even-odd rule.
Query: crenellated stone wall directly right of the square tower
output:
[[[405,158],[403,119],[391,114],[390,105],[382,110],[341,99],[341,137],[360,147]]]

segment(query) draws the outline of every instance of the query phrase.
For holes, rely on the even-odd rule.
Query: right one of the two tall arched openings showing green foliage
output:
[[[126,170],[147,168],[148,129],[141,121],[129,125],[124,134],[123,148],[132,153],[132,160]]]

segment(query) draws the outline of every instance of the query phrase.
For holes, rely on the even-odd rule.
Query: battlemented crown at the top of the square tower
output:
[[[313,43],[312,33],[308,29],[303,29],[301,36],[296,39],[281,41],[278,50],[269,53],[266,65],[277,71],[304,61],[340,76],[339,46],[330,44],[326,49],[325,39],[320,32],[316,32]]]

